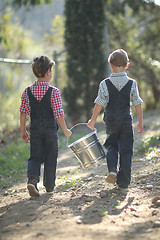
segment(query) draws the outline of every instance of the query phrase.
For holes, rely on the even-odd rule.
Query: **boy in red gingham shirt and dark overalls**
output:
[[[37,81],[26,88],[21,97],[20,129],[24,141],[30,142],[27,188],[30,196],[38,197],[37,183],[41,163],[44,163],[43,184],[47,192],[55,186],[58,156],[57,122],[66,138],[72,132],[67,129],[60,91],[49,85],[54,62],[47,56],[33,59],[32,70]],[[26,115],[31,118],[30,137],[26,131]]]

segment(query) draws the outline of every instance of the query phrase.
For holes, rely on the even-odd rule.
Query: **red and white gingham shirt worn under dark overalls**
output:
[[[50,85],[46,81],[42,81],[42,82],[35,81],[33,85],[30,86],[30,89],[33,95],[38,99],[38,101],[40,101],[43,98],[44,94],[47,92],[49,87]],[[59,118],[64,115],[64,111],[62,108],[61,93],[59,89],[55,87],[53,87],[53,90],[51,93],[51,107],[53,109],[53,114],[55,118]],[[24,90],[21,97],[20,112],[25,112],[29,116],[31,115],[27,88]]]

